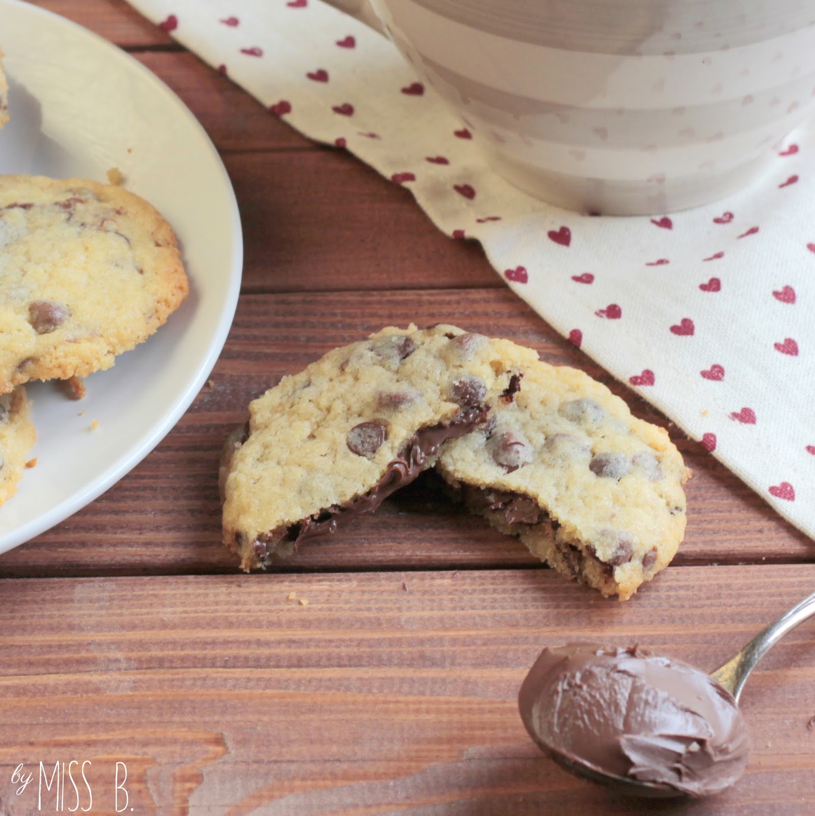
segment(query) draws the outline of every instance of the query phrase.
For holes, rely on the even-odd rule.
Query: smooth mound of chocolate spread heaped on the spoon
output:
[[[747,764],[746,723],[729,692],[688,663],[639,646],[544,649],[518,704],[529,736],[578,774],[707,796],[735,783]]]

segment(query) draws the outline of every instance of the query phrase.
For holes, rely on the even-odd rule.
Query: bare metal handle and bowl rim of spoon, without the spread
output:
[[[803,623],[815,614],[815,592],[804,598],[803,601],[795,604],[791,610],[770,623],[767,628],[762,629],[749,643],[742,646],[731,659],[711,672],[711,677],[724,689],[728,690],[733,699],[738,703],[738,698],[742,694],[742,688],[755,668],[756,663],[764,657],[781,638],[791,629]],[[640,782],[631,777],[618,776],[602,772],[594,767],[575,761],[573,757],[563,756],[558,752],[552,752],[555,759],[565,769],[573,774],[589,779],[591,782],[600,783],[606,787],[613,787],[620,793],[627,796],[640,796],[653,799],[668,799],[676,796],[684,796],[683,792],[677,791],[668,785]]]

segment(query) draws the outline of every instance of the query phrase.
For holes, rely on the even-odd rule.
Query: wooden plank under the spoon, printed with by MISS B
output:
[[[3,581],[0,801],[35,812],[38,762],[73,759],[92,762],[92,813],[113,813],[117,761],[138,814],[640,813],[527,738],[516,692],[538,650],[640,642],[710,670],[813,583],[813,565],[689,567],[615,604],[527,570]],[[746,687],[746,776],[653,809],[812,812],[813,684],[805,625]],[[20,763],[35,782],[16,796]]]

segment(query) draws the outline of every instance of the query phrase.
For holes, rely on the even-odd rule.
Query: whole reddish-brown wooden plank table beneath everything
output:
[[[540,756],[516,713],[538,650],[572,638],[716,667],[815,587],[812,541],[410,193],[303,139],[122,0],[38,4],[131,51],[193,109],[236,188],[246,269],[213,384],[175,430],[91,506],[0,557],[0,814],[38,812],[40,761],[78,780],[77,800],[63,778],[66,811],[91,805],[91,761],[91,814],[815,813],[815,625],[751,679],[751,763],[712,800],[618,800]],[[687,539],[631,601],[566,583],[437,503],[432,481],[281,570],[237,571],[219,543],[217,469],[248,401],[335,345],[442,320],[583,368],[671,429],[694,472]],[[20,763],[33,781],[18,795]]]

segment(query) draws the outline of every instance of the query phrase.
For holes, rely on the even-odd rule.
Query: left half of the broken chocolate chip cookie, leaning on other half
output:
[[[241,566],[267,565],[373,510],[430,467],[445,440],[483,424],[485,394],[507,388],[509,375],[499,343],[474,364],[481,345],[450,326],[387,328],[252,402],[220,472],[224,543]]]

